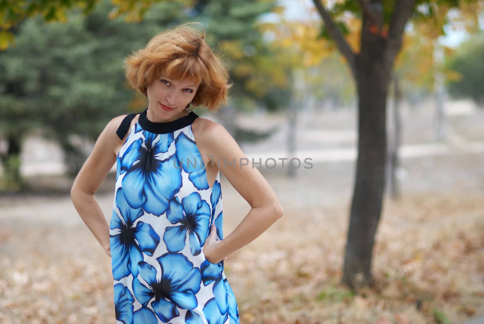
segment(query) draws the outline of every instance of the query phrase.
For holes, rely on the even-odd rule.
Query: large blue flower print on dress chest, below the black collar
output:
[[[180,190],[181,170],[174,168],[176,154],[164,160],[158,156],[168,151],[173,133],[143,134],[145,139],[131,143],[121,158],[121,171],[126,172],[121,185],[130,190],[126,200],[131,207],[160,216]]]

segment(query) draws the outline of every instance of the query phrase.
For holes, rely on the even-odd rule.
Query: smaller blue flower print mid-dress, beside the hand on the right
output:
[[[170,201],[166,217],[172,224],[163,235],[163,241],[169,252],[179,252],[185,247],[186,235],[190,237],[192,255],[200,254],[205,243],[210,224],[210,206],[201,199],[198,192],[192,192],[180,202],[178,197]]]

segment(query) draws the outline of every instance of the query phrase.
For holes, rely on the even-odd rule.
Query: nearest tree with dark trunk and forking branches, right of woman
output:
[[[386,98],[395,57],[410,18],[434,18],[435,9],[454,0],[344,0],[328,10],[313,0],[323,32],[345,57],[358,93],[358,157],[351,201],[342,282],[353,289],[371,284],[372,251],[382,209],[387,158]],[[360,48],[344,37],[344,15],[361,18]]]

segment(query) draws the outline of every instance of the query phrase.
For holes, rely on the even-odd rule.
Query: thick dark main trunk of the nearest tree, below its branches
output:
[[[358,158],[342,278],[355,291],[373,284],[372,251],[385,187],[386,98],[393,61],[383,58],[384,42],[363,32],[356,60]]]

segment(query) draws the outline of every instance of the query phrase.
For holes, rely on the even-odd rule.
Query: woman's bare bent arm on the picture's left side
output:
[[[109,256],[109,225],[94,193],[116,163],[116,150],[122,143],[116,135],[116,130],[123,118],[124,116],[116,117],[106,125],[71,189],[74,207]]]

